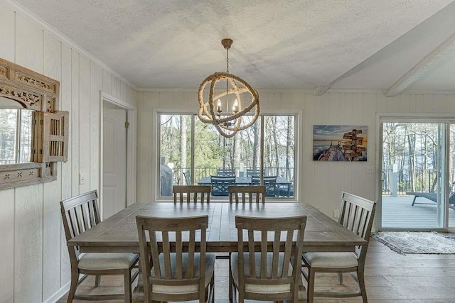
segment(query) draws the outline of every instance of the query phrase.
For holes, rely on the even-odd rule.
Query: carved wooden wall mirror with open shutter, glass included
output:
[[[0,189],[57,179],[68,159],[68,111],[60,82],[0,58]]]

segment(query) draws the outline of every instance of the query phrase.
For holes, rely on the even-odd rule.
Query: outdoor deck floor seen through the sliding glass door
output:
[[[382,228],[437,228],[437,204],[422,197],[382,197]],[[449,209],[449,228],[455,228],[455,211]]]

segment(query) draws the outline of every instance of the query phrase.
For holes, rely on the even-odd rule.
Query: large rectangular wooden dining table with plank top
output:
[[[303,250],[346,252],[355,251],[356,246],[366,244],[363,238],[338,224],[322,211],[302,202],[149,202],[135,203],[117,214],[101,221],[96,226],[67,242],[68,246],[79,246],[81,252],[132,252],[139,253],[139,238],[136,216],[186,217],[207,215],[206,250],[215,253],[237,251],[237,228],[235,216],[262,218],[307,216]],[[270,239],[272,242],[272,239]],[[141,275],[134,290],[134,301],[141,302]],[[138,299],[139,298],[139,299]]]

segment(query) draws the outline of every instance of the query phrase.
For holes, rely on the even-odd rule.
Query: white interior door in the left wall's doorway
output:
[[[103,108],[103,219],[127,206],[127,111],[111,107]]]

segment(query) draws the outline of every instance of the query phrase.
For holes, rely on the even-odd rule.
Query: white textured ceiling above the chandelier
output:
[[[196,89],[225,71],[222,38],[234,40],[230,72],[256,88],[314,89],[343,75],[333,87],[387,89],[455,32],[452,1],[17,0],[149,89]],[[455,90],[450,66],[449,56],[412,88]]]

